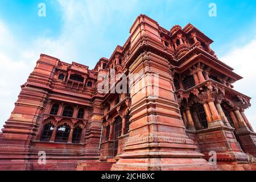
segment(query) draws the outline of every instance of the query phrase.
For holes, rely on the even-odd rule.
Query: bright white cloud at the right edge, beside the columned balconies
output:
[[[251,107],[245,111],[249,122],[256,131],[256,38],[245,46],[236,47],[220,60],[234,68],[243,77],[234,83],[234,89],[251,97]]]

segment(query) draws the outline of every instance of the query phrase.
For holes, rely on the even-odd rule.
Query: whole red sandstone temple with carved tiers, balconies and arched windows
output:
[[[212,42],[190,23],[168,31],[139,15],[126,43],[92,70],[40,55],[0,133],[0,169],[255,170],[250,97],[233,89],[242,77]],[[99,93],[110,69],[136,73],[127,86],[138,92]]]

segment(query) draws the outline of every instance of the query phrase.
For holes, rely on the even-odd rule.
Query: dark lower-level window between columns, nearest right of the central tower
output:
[[[204,106],[201,104],[196,104],[191,107],[192,113],[196,113],[197,118],[199,119],[199,122],[201,124],[201,127],[203,129],[208,128],[208,122],[207,122],[207,115],[205,114]],[[197,118],[195,118],[195,115],[192,114],[193,121],[196,121]]]

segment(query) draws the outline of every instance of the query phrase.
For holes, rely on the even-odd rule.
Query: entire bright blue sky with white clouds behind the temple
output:
[[[38,16],[38,4],[46,4],[46,17]],[[216,3],[217,17],[208,15]],[[14,102],[40,53],[93,68],[100,57],[109,57],[123,45],[139,14],[146,14],[170,30],[187,23],[214,40],[212,49],[244,77],[238,91],[253,97],[246,111],[256,130],[256,1],[0,1],[0,126],[10,116]],[[234,56],[236,55],[236,56]],[[252,65],[246,67],[246,65]],[[3,78],[9,78],[8,80]]]

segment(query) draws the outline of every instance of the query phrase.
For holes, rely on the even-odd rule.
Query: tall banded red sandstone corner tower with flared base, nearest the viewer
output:
[[[141,15],[130,34],[130,133],[112,170],[217,169],[185,134],[168,61],[173,51],[163,47],[159,25]]]

